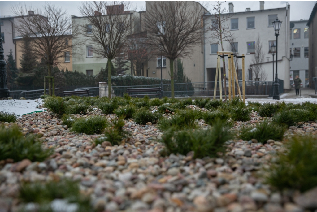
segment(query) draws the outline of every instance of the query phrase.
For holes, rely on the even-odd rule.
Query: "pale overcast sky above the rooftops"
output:
[[[13,15],[11,12],[11,7],[17,3],[24,3],[29,7],[38,7],[49,2],[55,4],[56,6],[62,7],[68,12],[69,15],[81,16],[78,7],[81,1],[0,1],[0,12],[1,16]],[[210,12],[212,9],[212,4],[215,1],[199,1],[202,4],[207,4],[207,8]],[[259,10],[259,1],[226,1],[223,5],[228,8],[228,3],[232,2],[234,5],[235,12],[242,12],[246,8],[251,8],[251,10]],[[281,8],[286,7],[286,3],[290,4],[291,14],[290,20],[297,21],[300,19],[308,20],[311,11],[314,7],[314,1],[264,1],[264,9]],[[136,8],[137,11],[145,10],[145,1],[131,1],[132,8]]]

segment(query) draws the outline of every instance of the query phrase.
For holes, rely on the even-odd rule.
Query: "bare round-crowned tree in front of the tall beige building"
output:
[[[203,40],[203,15],[207,10],[197,2],[149,1],[146,30],[156,55],[170,61],[171,97],[174,98],[174,60],[189,58]]]

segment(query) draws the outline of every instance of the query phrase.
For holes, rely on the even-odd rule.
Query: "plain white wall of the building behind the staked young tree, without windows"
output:
[[[269,41],[275,41],[275,31],[273,27],[268,26],[268,15],[277,14],[280,21],[282,21],[280,35],[278,36],[278,60],[281,61],[278,64],[278,77],[284,80],[284,89],[290,89],[289,83],[289,7],[287,8],[277,8],[269,10],[255,10],[255,11],[245,11],[236,12],[230,14],[230,18],[224,24],[229,25],[230,19],[238,18],[238,28],[237,30],[230,30],[232,36],[235,38],[235,42],[238,42],[238,53],[237,55],[245,55],[245,75],[246,80],[248,80],[248,68],[252,64],[252,54],[247,53],[247,42],[255,42],[258,35],[262,42],[262,50],[264,52],[263,69],[266,73],[266,81],[272,81],[272,55],[269,53]],[[223,16],[227,16],[224,14]],[[255,17],[255,28],[247,29],[247,17]],[[211,25],[212,15],[205,16],[205,27]],[[217,43],[218,40],[212,38],[212,32],[207,31],[205,34],[205,75],[207,81],[207,68],[217,67],[217,54],[211,54],[210,44]],[[231,51],[230,43],[223,42],[224,51]],[[221,45],[218,45],[218,51],[221,51]],[[268,58],[268,61],[267,61]],[[227,60],[227,59],[226,59]],[[276,56],[274,57],[274,61]],[[221,62],[221,67],[223,63]],[[238,66],[241,68],[241,59],[238,59]],[[228,64],[226,63],[226,73],[228,74]]]

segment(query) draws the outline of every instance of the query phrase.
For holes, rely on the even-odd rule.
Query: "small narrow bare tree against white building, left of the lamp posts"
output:
[[[264,52],[262,49],[262,42],[260,35],[257,36],[254,44],[254,54],[252,55],[252,72],[255,80],[265,81],[266,73],[263,70],[262,63],[264,61]]]

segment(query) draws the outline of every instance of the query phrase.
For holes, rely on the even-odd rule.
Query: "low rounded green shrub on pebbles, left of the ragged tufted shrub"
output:
[[[78,133],[86,133],[87,135],[100,134],[109,126],[109,122],[103,116],[90,116],[88,118],[81,117],[72,125],[72,131]]]

